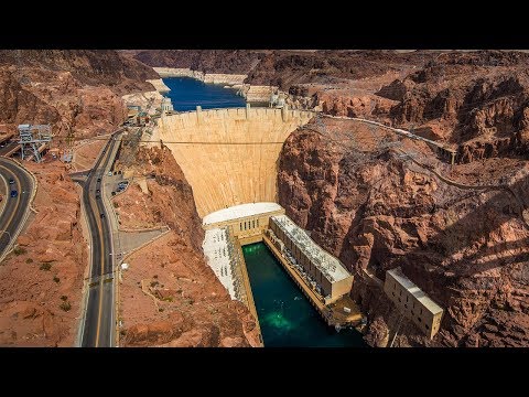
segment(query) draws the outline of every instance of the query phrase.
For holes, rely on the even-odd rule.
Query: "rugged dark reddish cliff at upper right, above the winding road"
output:
[[[393,124],[461,144],[458,161],[522,154],[528,148],[529,54],[444,53],[384,86]]]

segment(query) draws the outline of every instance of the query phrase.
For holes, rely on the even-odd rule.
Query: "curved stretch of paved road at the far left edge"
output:
[[[3,197],[7,201],[6,207],[0,215],[0,230],[7,232],[0,232],[0,258],[2,258],[4,251],[17,239],[22,223],[26,219],[31,195],[35,186],[28,171],[10,159],[0,158],[0,173],[8,183],[8,194]],[[14,180],[14,184],[9,184],[10,179]],[[19,192],[17,197],[11,197],[12,190]]]

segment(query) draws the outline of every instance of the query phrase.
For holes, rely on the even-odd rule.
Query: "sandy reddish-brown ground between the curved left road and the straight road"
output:
[[[0,265],[0,345],[72,346],[88,264],[79,187],[60,161],[25,165],[39,182],[36,214]]]

